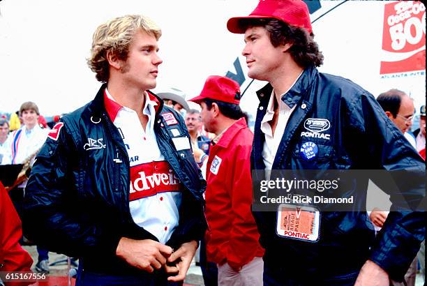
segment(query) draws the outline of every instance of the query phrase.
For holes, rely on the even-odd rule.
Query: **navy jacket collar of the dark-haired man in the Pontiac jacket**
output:
[[[317,76],[317,73],[317,69],[314,66],[306,68],[297,82],[295,82],[294,86],[282,96],[282,101],[290,108],[294,107],[294,105],[299,103],[301,96],[303,96],[306,90],[313,84],[313,79]],[[267,107],[272,91],[273,86],[271,86],[271,84],[267,84],[257,91],[257,96],[262,106]]]

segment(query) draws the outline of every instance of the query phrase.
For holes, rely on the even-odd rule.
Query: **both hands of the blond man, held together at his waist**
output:
[[[128,264],[152,273],[163,267],[166,273],[174,274],[167,278],[178,282],[186,278],[191,259],[197,250],[197,242],[183,243],[177,250],[151,239],[135,240],[122,237],[117,246],[116,255]]]

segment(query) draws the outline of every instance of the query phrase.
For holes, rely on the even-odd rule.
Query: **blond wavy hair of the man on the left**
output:
[[[137,31],[144,31],[156,40],[162,35],[160,27],[143,15],[125,15],[100,24],[93,33],[91,57],[87,59],[89,68],[96,73],[96,80],[107,82],[110,77],[107,52],[120,60],[128,59],[129,46]]]

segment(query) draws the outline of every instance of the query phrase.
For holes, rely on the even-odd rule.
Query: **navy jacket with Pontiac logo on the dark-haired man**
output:
[[[251,153],[253,170],[265,169],[265,139],[260,126],[271,91],[272,86],[267,84],[257,92],[260,105]],[[297,107],[287,122],[273,170],[418,170],[424,176],[419,180],[422,183],[403,192],[425,203],[424,161],[368,91],[343,77],[318,73],[309,67],[282,100]],[[310,136],[304,128],[307,119],[326,119],[330,126]],[[312,160],[300,153],[304,142],[314,142],[318,147]],[[365,194],[361,202],[366,201],[367,186],[366,180],[355,188]],[[376,238],[365,209],[322,212],[320,239],[316,243],[278,236],[277,213],[254,211],[260,241],[266,249],[266,266],[280,268],[285,276],[327,280],[349,273],[357,275],[364,262],[371,259],[391,278],[401,281],[424,239],[426,217],[420,211],[399,211],[394,206],[396,195],[400,194],[384,191],[391,195],[391,210],[396,211],[389,214]]]

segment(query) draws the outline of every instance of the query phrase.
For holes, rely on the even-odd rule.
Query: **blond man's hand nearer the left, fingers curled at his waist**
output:
[[[122,237],[116,255],[128,264],[147,272],[160,269],[172,254],[172,248],[151,239],[135,240]]]

